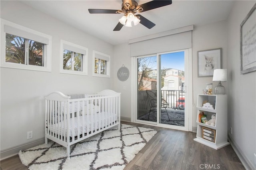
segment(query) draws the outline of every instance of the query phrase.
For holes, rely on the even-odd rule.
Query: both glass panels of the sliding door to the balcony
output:
[[[136,121],[185,127],[186,50],[136,58]]]

